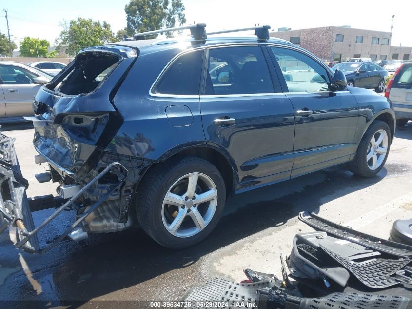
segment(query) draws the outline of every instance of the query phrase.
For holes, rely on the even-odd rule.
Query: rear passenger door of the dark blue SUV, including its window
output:
[[[233,160],[237,192],[291,174],[294,110],[268,61],[259,45],[213,47],[206,56],[203,130],[208,146]],[[215,63],[222,66],[217,76]]]

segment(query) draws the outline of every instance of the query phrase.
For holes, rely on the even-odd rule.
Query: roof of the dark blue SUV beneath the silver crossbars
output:
[[[256,36],[239,36],[239,37],[209,37],[204,41],[197,41],[191,37],[179,37],[170,39],[149,39],[149,40],[134,40],[112,43],[113,45],[129,46],[138,48],[141,54],[156,52],[159,50],[176,48],[181,45],[183,48],[188,46],[199,47],[224,43],[277,43],[284,45],[294,45],[289,41],[271,38],[269,40],[259,40]]]

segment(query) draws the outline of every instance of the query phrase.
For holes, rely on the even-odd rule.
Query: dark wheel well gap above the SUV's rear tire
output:
[[[226,197],[230,195],[234,186],[234,173],[232,166],[229,164],[229,161],[218,151],[213,150],[211,148],[206,147],[194,147],[182,150],[173,156],[167,158],[165,161],[175,159],[177,157],[186,157],[186,156],[194,156],[198,158],[202,158],[206,161],[209,161],[216,168],[219,170],[220,174],[223,177],[223,181],[225,182],[226,186]],[[148,171],[158,163],[154,163],[149,166],[149,168],[145,171],[147,174]],[[144,178],[144,176],[143,176]],[[141,180],[140,180],[141,181]]]

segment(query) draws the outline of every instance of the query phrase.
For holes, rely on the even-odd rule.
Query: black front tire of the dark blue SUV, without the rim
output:
[[[366,161],[366,153],[368,151],[369,143],[372,139],[372,136],[376,134],[378,130],[385,130],[388,135],[388,147],[386,151],[385,158],[381,165],[376,169],[371,169]],[[348,163],[348,168],[353,174],[360,175],[363,177],[373,177],[380,172],[382,167],[385,165],[386,159],[388,158],[389,150],[391,147],[391,130],[389,129],[388,124],[383,121],[375,120],[369,128],[366,130],[363,135],[358,149],[356,151],[355,158]]]

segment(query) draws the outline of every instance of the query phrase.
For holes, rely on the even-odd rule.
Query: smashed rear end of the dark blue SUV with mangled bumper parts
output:
[[[35,116],[30,117],[39,153],[35,162],[50,167],[35,176],[40,183],[58,182],[59,197],[27,199],[14,139],[1,134],[0,225],[3,230],[8,224],[15,227],[17,247],[41,253],[65,237],[79,241],[133,224],[128,211],[133,170],[143,162],[104,150],[123,123],[113,96],[137,57],[138,49],[125,46],[86,48],[35,96]],[[57,210],[35,227],[31,211],[52,207]],[[39,230],[67,209],[76,211],[76,221],[40,248]]]

